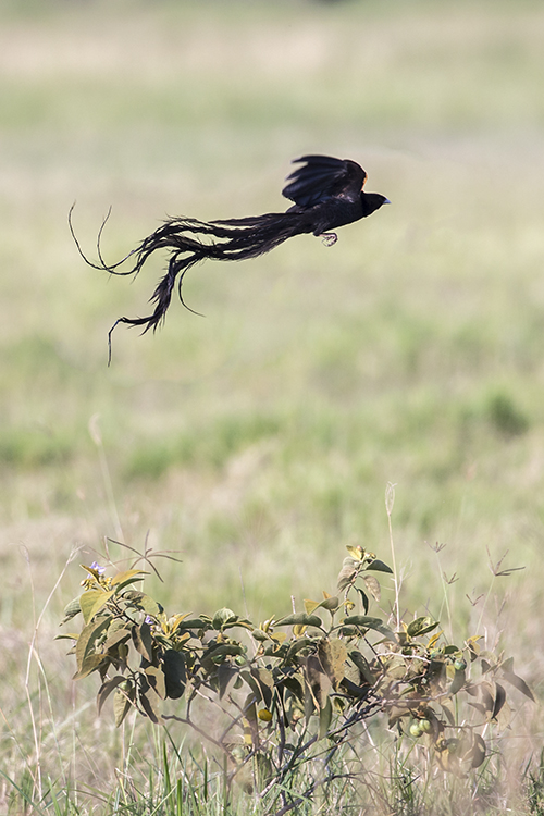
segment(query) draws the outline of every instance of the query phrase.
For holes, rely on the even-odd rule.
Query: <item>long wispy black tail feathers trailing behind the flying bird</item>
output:
[[[165,251],[169,256],[168,271],[160,279],[149,299],[154,305],[153,312],[143,318],[118,318],[109,333],[110,358],[111,335],[115,326],[119,323],[125,323],[132,326],[143,326],[143,334],[150,329],[154,332],[165,319],[176,284],[181,302],[186,309],[193,311],[183,299],[182,286],[185,274],[196,263],[207,259],[239,261],[257,258],[294,235],[311,231],[305,223],[304,217],[294,212],[272,212],[264,215],[213,222],[171,218],[151,235],[144,238],[124,258],[115,263],[107,263],[101,252],[101,238],[110,217],[110,212],[108,212],[98,234],[97,254],[99,262],[95,263],[84,254],[75,236],[72,225],[73,209],[74,207],[71,208],[69,214],[72,237],[82,258],[95,269],[104,270],[113,275],[137,275],[147,260],[156,252]],[[127,261],[132,261],[129,268],[121,269]]]

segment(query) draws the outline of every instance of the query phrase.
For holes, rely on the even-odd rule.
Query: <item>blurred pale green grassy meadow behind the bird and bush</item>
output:
[[[347,544],[391,560],[387,483],[403,608],[504,647],[542,700],[543,38],[537,0],[2,3],[0,767],[22,789],[78,781],[101,795],[73,812],[110,813],[160,754],[151,726],[97,719],[53,640],[107,539],[176,551],[147,582],[169,610],[264,620],[333,592]],[[112,207],[113,261],[166,214],[283,210],[309,152],[392,206],[332,248],[194,269],[206,317],[119,326],[108,367],[162,268],[85,265],[71,205],[89,255]],[[543,746],[539,706],[512,707],[486,813]]]

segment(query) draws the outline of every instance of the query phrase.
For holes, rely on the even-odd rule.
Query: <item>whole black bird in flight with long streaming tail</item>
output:
[[[161,250],[169,254],[168,272],[150,298],[154,305],[153,313],[146,318],[119,318],[110,330],[110,350],[111,333],[119,323],[144,326],[144,334],[150,329],[156,331],[165,318],[176,281],[180,300],[186,306],[182,296],[183,279],[195,263],[207,258],[218,261],[257,258],[287,238],[304,233],[313,233],[323,238],[326,246],[332,246],[337,235],[331,231],[367,218],[382,205],[390,203],[385,196],[363,191],[367,173],[350,159],[302,156],[294,163],[301,166],[287,177],[288,184],[282,190],[285,198],[294,201],[286,212],[212,222],[188,218],[168,219],[127,256],[112,264],[104,262],[100,250],[108,218],[98,235],[99,263],[94,263],[84,255],[75,237],[70,211],[70,228],[77,249],[84,260],[96,269],[114,275],[137,275],[151,255]],[[133,259],[132,267],[122,271],[120,267],[129,259]]]

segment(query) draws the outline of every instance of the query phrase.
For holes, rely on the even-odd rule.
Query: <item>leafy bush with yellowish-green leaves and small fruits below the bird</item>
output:
[[[403,622],[398,605],[396,617],[369,615],[380,599],[375,576],[393,571],[360,546],[347,549],[336,594],[259,626],[228,608],[169,616],[135,589],[141,570],[107,577],[85,567],[84,591],[63,621],[81,614],[83,629],[61,635],[75,641],[75,679],[99,675],[98,709],[113,694],[116,725],[131,709],[158,725],[187,724],[223,752],[227,789],[238,777],[258,795],[272,792],[280,813],[356,776],[354,765],[338,769],[336,754],[378,713],[443,770],[466,776],[486,756],[484,729],[508,725],[504,683],[532,700],[530,689],[511,658],[481,651],[478,634],[457,646],[430,617]],[[202,704],[214,708],[214,733],[199,719]],[[304,793],[286,793],[312,763]]]

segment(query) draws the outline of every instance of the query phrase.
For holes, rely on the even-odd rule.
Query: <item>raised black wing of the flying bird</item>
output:
[[[302,163],[288,177],[282,195],[299,207],[313,207],[330,198],[341,196],[356,201],[367,181],[367,173],[349,159],[332,156],[302,156],[294,164]]]

